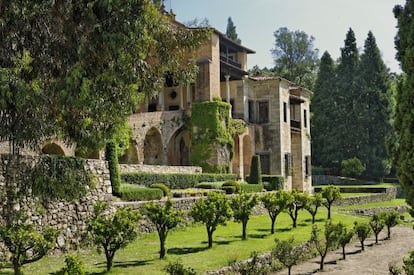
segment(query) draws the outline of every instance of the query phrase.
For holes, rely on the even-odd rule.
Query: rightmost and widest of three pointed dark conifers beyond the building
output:
[[[360,148],[357,157],[366,166],[366,174],[383,177],[390,171],[385,140],[391,133],[389,74],[372,32],[365,40],[359,67],[360,93],[356,99],[359,111]]]

